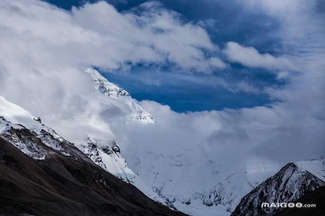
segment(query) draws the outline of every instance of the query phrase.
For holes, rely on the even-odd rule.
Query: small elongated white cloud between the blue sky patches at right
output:
[[[261,54],[253,47],[241,46],[236,42],[228,42],[223,52],[229,60],[249,67],[268,69],[295,69],[293,63],[285,57],[275,57],[269,53]]]

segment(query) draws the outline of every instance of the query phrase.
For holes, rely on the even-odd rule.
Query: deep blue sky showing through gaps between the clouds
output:
[[[70,10],[72,6],[80,6],[85,1],[47,0],[47,2]],[[118,11],[125,11],[146,1],[108,2]],[[272,54],[276,54],[276,51],[281,49],[272,34],[277,28],[275,20],[251,11],[248,13],[236,6],[237,4],[232,4],[232,1],[163,0],[160,2],[164,7],[180,13],[186,22],[214,20],[215,24],[206,27],[206,30],[211,40],[221,49],[229,41],[253,46],[261,52]],[[263,105],[270,102],[263,88],[281,87],[284,84],[279,82],[271,71],[246,68],[239,64],[230,64],[228,69],[214,71],[212,75],[189,73],[169,65],[163,68],[137,65],[128,72],[110,71],[103,74],[109,81],[129,91],[134,98],[168,104],[177,112]],[[255,90],[250,92],[236,90],[241,82]],[[227,86],[220,83],[226,83]]]

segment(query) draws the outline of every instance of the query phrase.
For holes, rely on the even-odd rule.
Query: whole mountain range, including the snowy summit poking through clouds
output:
[[[98,71],[85,73],[94,91],[129,107],[125,127],[159,124]],[[3,97],[0,116],[3,215],[272,215],[282,209],[262,203],[295,202],[325,185],[321,157],[278,171],[220,163],[199,147],[159,152],[134,140],[126,160],[114,137],[99,143],[89,132],[73,143]]]

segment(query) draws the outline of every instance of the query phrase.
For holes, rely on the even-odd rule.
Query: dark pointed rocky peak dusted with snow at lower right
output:
[[[272,215],[281,207],[262,203],[290,203],[325,185],[325,159],[288,163],[242,198],[232,215]]]

